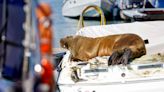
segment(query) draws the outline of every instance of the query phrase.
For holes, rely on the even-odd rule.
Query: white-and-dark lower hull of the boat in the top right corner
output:
[[[124,20],[164,20],[164,8],[140,8],[122,10]]]

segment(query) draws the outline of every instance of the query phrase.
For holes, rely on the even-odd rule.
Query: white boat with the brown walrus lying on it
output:
[[[60,92],[163,92],[164,90],[164,22],[148,21],[82,28],[76,35],[100,37],[110,34],[136,33],[146,44],[147,55],[134,60],[128,66],[106,66],[108,57],[96,57],[100,65],[77,63],[70,60],[67,51],[62,60],[57,80]],[[157,54],[163,53],[163,54]],[[77,70],[79,81],[71,78],[72,67]]]

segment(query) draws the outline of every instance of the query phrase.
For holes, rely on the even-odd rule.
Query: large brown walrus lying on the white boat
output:
[[[96,38],[67,36],[60,40],[60,45],[70,50],[73,60],[88,61],[97,56],[110,56],[109,65],[128,64],[129,60],[146,54],[144,40],[130,33]]]

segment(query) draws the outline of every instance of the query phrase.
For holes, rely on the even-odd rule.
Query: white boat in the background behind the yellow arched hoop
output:
[[[78,17],[83,9],[90,5],[101,7],[105,12],[110,10],[114,2],[111,0],[64,0],[62,6],[62,15],[66,17]],[[104,7],[104,8],[103,8]],[[99,16],[93,9],[88,10],[84,17],[97,17]]]

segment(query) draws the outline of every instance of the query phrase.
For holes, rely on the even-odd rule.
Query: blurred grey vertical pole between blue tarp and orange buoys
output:
[[[23,28],[25,31],[25,39],[23,41],[24,45],[24,61],[23,61],[23,71],[22,71],[22,87],[24,92],[32,92],[33,90],[33,80],[30,76],[30,57],[31,50],[34,49],[34,31],[32,30],[32,0],[24,0],[26,5],[24,5],[25,12],[25,22],[23,23]]]

